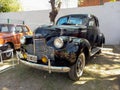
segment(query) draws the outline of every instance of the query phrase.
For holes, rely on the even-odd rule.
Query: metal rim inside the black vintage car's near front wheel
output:
[[[76,65],[76,74],[78,77],[82,75],[84,67],[85,67],[85,60],[84,60],[84,56],[81,55],[80,57],[78,57],[77,65]]]

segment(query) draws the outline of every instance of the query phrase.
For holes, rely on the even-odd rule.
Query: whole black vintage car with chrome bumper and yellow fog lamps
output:
[[[19,60],[31,67],[49,72],[68,72],[78,80],[89,57],[100,52],[105,37],[98,19],[89,14],[60,17],[56,25],[43,25],[33,36],[21,38]]]

